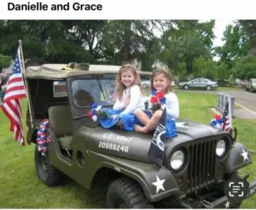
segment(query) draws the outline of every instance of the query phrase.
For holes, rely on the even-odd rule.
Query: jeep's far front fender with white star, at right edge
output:
[[[241,167],[252,163],[247,148],[241,143],[232,145],[230,153],[224,163],[224,173],[234,173]]]

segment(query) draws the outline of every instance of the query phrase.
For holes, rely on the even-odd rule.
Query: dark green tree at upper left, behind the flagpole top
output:
[[[25,58],[42,58],[64,62],[86,58],[84,48],[72,37],[72,21],[67,20],[2,20],[0,50],[15,55],[21,39]]]

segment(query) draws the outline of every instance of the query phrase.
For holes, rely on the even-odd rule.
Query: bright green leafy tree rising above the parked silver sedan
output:
[[[162,37],[160,57],[178,70],[179,63],[185,62],[187,74],[193,72],[193,62],[201,54],[211,57],[214,20],[169,20]]]

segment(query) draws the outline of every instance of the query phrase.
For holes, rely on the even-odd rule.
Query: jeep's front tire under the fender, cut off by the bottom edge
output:
[[[154,208],[135,181],[127,178],[115,179],[108,187],[108,208]]]

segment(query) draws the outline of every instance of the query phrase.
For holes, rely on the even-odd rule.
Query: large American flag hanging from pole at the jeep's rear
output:
[[[26,97],[26,88],[23,82],[21,65],[20,65],[20,48],[15,56],[13,74],[7,82],[7,89],[3,98],[3,113],[9,118],[10,131],[15,133],[15,139],[20,142],[20,145],[25,145],[22,114],[21,114],[21,99]]]

